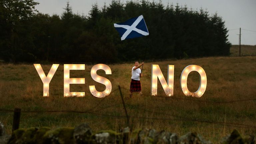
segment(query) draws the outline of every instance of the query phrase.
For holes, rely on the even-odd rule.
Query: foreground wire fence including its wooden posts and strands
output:
[[[125,89],[128,90],[126,88],[120,88],[120,95],[122,97],[122,92],[121,89]],[[117,91],[118,89],[113,90]],[[256,98],[255,99],[241,99],[241,100],[232,100],[232,101],[210,101],[210,100],[200,100],[197,98],[178,98],[178,97],[167,97],[167,96],[156,96],[159,98],[166,98],[166,99],[175,99],[175,100],[186,100],[186,101],[194,101],[194,102],[205,102],[205,103],[212,103],[212,104],[232,104],[232,103],[237,103],[237,102],[248,102],[248,101],[253,101],[256,102]],[[115,104],[111,104],[105,107],[98,107],[99,105],[101,105],[101,103],[104,101],[104,98],[102,100],[100,100],[95,107],[90,108],[88,110],[85,111],[74,111],[74,110],[50,110],[50,111],[29,111],[29,110],[24,110],[21,111],[19,110],[18,115],[20,116],[20,113],[83,113],[83,114],[91,114],[91,115],[96,115],[96,116],[100,116],[100,117],[110,117],[110,118],[118,118],[118,119],[127,119],[127,123],[129,126],[129,121],[130,119],[141,119],[141,120],[157,120],[157,121],[187,121],[187,122],[198,122],[198,123],[209,123],[209,124],[218,124],[218,125],[223,125],[223,126],[229,126],[229,127],[239,127],[239,128],[249,128],[249,129],[255,129],[256,125],[248,125],[248,124],[242,124],[242,123],[231,123],[231,122],[226,122],[226,121],[213,121],[213,120],[202,120],[199,118],[189,118],[189,117],[184,117],[184,116],[180,116],[180,115],[175,115],[175,114],[170,114],[170,113],[165,113],[165,112],[159,112],[159,111],[152,111],[152,110],[148,110],[148,109],[144,109],[144,108],[137,108],[137,111],[144,111],[150,114],[161,114],[164,116],[169,116],[171,118],[167,118],[167,117],[145,117],[145,116],[134,116],[131,115],[129,116],[128,113],[126,113],[126,115],[113,115],[113,114],[102,114],[99,113],[99,111],[108,109],[108,108],[113,108],[116,106],[121,106],[121,104],[123,104],[124,109],[125,108],[125,103],[124,100],[122,98],[122,102],[117,102]],[[14,113],[14,120],[13,120],[13,130],[17,129],[18,126],[16,126],[15,128],[15,123],[16,125],[19,125],[19,118],[18,120],[15,120],[15,117],[17,117],[17,108],[15,108],[14,110],[10,110],[10,109],[0,109],[0,112],[4,112],[4,113]],[[18,117],[19,117],[18,116]],[[16,118],[17,119],[17,118]]]

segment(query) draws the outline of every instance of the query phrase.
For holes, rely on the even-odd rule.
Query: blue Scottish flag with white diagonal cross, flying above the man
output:
[[[116,23],[114,27],[118,31],[121,40],[149,35],[143,15],[131,18],[126,22]]]

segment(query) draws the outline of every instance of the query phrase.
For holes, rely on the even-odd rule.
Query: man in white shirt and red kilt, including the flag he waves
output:
[[[122,23],[115,23],[114,27],[118,31],[121,40],[142,37],[149,35],[147,25],[143,18],[143,15],[138,17],[131,18],[126,22]],[[147,48],[147,47],[146,47]],[[146,54],[146,51],[145,51]],[[144,56],[145,60],[145,56]],[[136,61],[134,67],[132,68],[132,81],[130,85],[130,97],[132,97],[133,92],[141,93],[141,84],[140,84],[140,77],[142,76],[142,69],[143,69],[143,62],[139,65],[139,62]],[[142,69],[140,67],[142,66]]]

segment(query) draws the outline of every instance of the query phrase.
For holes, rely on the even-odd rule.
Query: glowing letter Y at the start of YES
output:
[[[43,91],[43,96],[47,97],[49,96],[49,84],[52,80],[53,75],[55,74],[57,68],[59,67],[59,64],[53,64],[49,73],[47,74],[47,77],[45,76],[45,73],[41,67],[40,64],[34,64],[37,73],[39,74],[43,85],[44,85],[44,91]]]

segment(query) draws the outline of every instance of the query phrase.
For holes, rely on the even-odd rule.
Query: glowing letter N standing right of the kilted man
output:
[[[167,79],[168,83],[164,79],[164,76],[158,65],[151,66],[151,95],[157,95],[157,78],[159,79],[164,92],[167,96],[173,96],[173,74],[174,65],[168,65]]]

